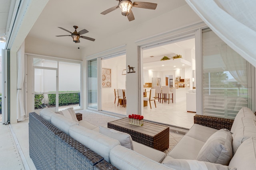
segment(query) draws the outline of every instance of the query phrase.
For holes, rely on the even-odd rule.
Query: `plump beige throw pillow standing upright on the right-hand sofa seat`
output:
[[[207,139],[196,160],[228,165],[233,156],[232,139],[229,130],[216,131]]]

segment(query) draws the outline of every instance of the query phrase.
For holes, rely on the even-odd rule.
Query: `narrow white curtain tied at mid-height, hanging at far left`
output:
[[[24,42],[17,52],[17,119],[25,120],[23,83],[25,76],[25,45]]]

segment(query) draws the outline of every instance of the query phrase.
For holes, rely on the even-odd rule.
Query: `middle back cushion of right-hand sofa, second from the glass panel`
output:
[[[238,147],[248,138],[256,137],[256,121],[250,117],[242,117],[240,124],[237,124],[233,132],[233,153],[236,153]],[[237,119],[238,120],[238,119]]]

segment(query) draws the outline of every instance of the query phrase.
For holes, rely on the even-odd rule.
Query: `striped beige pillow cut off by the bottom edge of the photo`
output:
[[[230,168],[222,164],[186,159],[170,159],[162,164],[175,170],[236,170],[236,168]]]

